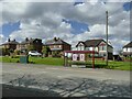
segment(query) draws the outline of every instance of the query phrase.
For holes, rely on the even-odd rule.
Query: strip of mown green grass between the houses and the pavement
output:
[[[10,56],[0,57],[0,62],[2,63],[20,63],[19,57],[11,58]],[[29,57],[29,63],[31,64],[45,64],[45,65],[54,65],[54,66],[63,66],[64,59],[63,58],[55,58],[55,57]],[[78,63],[77,63],[78,64]],[[82,65],[84,63],[79,63],[78,65]],[[91,62],[87,63],[90,64]],[[106,66],[105,61],[96,61],[95,62],[96,68],[108,68],[108,69],[120,69],[120,70],[132,70],[132,66],[130,62],[109,62],[109,65]]]

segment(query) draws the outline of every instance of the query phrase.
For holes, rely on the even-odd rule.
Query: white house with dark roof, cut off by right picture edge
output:
[[[128,43],[127,45],[123,46],[122,48],[122,54],[123,56],[132,56],[132,42]]]

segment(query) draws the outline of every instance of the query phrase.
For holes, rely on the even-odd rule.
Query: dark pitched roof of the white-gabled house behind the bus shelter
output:
[[[91,46],[98,46],[101,42],[106,42],[105,40],[87,40],[87,41],[85,41],[85,42],[79,42],[79,43],[84,43],[85,44],[85,46],[87,46],[87,47],[91,47]],[[78,44],[79,44],[78,43]],[[77,45],[78,45],[77,44]],[[76,45],[76,46],[77,46]],[[109,46],[111,46],[110,44],[108,44]],[[112,47],[112,46],[111,46]]]

